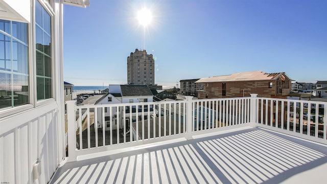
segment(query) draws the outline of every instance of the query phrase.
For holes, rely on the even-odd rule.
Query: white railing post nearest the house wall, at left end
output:
[[[67,104],[67,134],[68,134],[68,162],[77,160],[76,153],[76,130],[75,130],[75,103],[76,101],[66,101]]]

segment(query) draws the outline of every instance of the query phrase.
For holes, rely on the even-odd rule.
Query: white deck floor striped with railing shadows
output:
[[[51,183],[325,182],[327,147],[251,128],[66,163]]]

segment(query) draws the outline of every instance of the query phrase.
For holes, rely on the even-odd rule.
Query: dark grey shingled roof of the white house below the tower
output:
[[[122,96],[153,96],[147,85],[121,85]]]

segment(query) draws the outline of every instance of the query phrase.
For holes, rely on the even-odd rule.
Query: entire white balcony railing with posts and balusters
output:
[[[256,98],[255,94],[248,98],[186,97],[181,101],[87,106],[68,101],[68,158],[73,161],[81,155],[181,137],[192,139],[194,135],[245,126],[327,144],[326,105]]]

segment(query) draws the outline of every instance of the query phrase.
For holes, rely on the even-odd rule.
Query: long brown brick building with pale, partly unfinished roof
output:
[[[225,76],[202,78],[203,84],[198,98],[258,97],[287,98],[291,90],[291,79],[285,73],[267,74],[262,71],[242,72]]]

